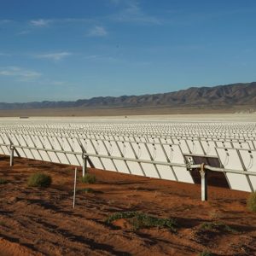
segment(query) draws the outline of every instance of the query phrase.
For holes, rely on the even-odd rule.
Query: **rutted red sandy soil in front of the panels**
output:
[[[33,172],[51,175],[47,189],[27,186]],[[0,255],[256,255],[256,215],[247,211],[248,193],[89,170],[95,184],[78,183],[73,209],[73,166],[0,157]],[[79,169],[79,176],[81,172]],[[107,224],[115,212],[138,211],[175,218],[167,228],[132,230],[128,220]],[[207,230],[203,223],[227,224],[230,230]],[[235,231],[234,231],[235,230]]]

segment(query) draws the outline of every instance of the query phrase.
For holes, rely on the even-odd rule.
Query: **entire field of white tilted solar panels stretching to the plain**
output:
[[[13,148],[13,149],[12,149]],[[256,172],[256,123],[26,120],[0,123],[0,154],[195,183],[196,157]],[[231,189],[256,190],[256,176],[224,172]]]

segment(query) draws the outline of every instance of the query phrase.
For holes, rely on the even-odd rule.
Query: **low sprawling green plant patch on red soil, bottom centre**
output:
[[[128,218],[134,230],[141,228],[168,228],[172,232],[176,231],[177,223],[172,218],[157,218],[143,212],[116,212],[107,219],[107,223],[112,223],[120,218]]]

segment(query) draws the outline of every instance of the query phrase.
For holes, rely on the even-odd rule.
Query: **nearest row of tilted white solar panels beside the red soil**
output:
[[[84,152],[90,155],[91,162],[99,169],[194,183],[186,167],[165,165],[187,163],[188,158],[185,156],[191,152],[184,151],[178,143],[135,143],[4,133],[0,134],[0,154],[9,154],[10,143],[15,145],[15,155],[30,159],[81,166],[81,155]],[[211,148],[207,142],[197,143],[192,145],[191,142],[186,142],[186,147],[201,147],[199,155],[218,158],[226,169],[256,172],[256,150],[223,148],[218,147],[216,142],[212,142]],[[203,145],[206,147],[204,150]],[[211,150],[216,155],[210,153]],[[253,176],[235,173],[225,175],[231,189],[256,190],[256,179]]]

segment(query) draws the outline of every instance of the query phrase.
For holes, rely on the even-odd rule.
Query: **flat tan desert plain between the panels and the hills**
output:
[[[236,105],[230,108],[223,108],[222,106],[215,107],[201,107],[191,106],[190,108],[174,107],[148,107],[148,108],[35,108],[35,109],[0,109],[0,117],[16,117],[16,116],[30,116],[30,117],[95,117],[95,116],[134,116],[134,115],[168,115],[174,116],[184,114],[236,114],[236,113],[255,113],[255,106]]]

